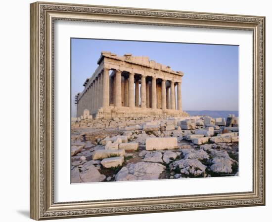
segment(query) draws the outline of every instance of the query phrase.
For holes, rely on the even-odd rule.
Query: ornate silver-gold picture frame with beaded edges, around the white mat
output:
[[[55,203],[53,39],[56,19],[253,31],[253,191]],[[30,4],[30,217],[35,220],[265,205],[265,17],[112,6]]]

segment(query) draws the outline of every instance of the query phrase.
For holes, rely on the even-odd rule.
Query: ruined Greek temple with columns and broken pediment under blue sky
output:
[[[101,52],[98,67],[75,98],[77,116],[95,118],[187,116],[182,111],[183,73],[146,56]]]

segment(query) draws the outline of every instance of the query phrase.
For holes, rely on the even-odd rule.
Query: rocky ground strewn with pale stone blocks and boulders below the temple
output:
[[[238,121],[229,118],[77,119],[71,182],[237,176]]]

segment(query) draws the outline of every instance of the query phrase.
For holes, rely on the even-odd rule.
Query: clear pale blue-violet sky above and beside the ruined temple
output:
[[[182,109],[238,111],[238,46],[144,41],[71,39],[72,116],[74,98],[97,68],[101,51],[132,53],[182,71]]]

